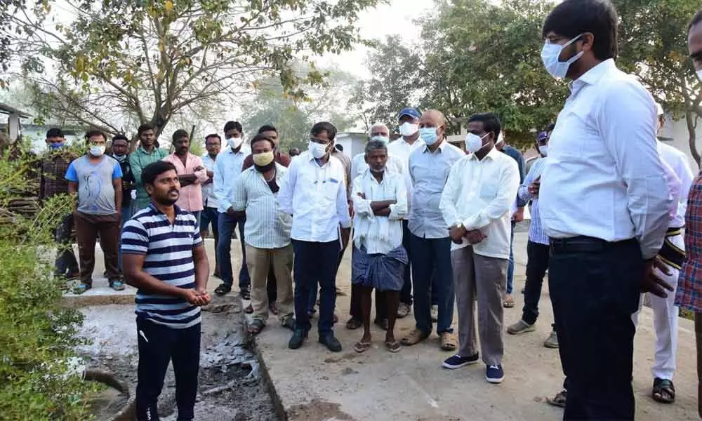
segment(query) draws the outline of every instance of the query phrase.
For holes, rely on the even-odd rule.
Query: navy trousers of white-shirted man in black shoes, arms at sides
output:
[[[319,337],[333,332],[334,307],[336,306],[336,269],[340,254],[338,240],[329,243],[293,240],[295,260],[295,324],[298,329],[310,330],[307,316],[312,289],[319,284]]]

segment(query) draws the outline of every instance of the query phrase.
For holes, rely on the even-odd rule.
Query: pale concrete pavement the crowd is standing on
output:
[[[526,233],[517,233],[517,305],[514,309],[505,310],[505,325],[517,321],[521,315],[522,295],[519,290],[524,284],[526,241]],[[207,242],[207,247],[212,259],[211,240]],[[98,261],[101,258],[101,253],[98,253]],[[238,241],[232,241],[232,260],[236,272],[240,265]],[[98,263],[96,266],[95,272],[100,274],[102,265]],[[337,300],[340,324],[335,329],[344,347],[343,352],[333,354],[317,343],[316,326],[310,332],[309,340],[296,351],[287,348],[291,332],[277,326],[272,320],[256,339],[276,399],[279,399],[289,420],[562,419],[562,410],[552,408],[544,401],[545,396],[560,390],[563,380],[557,350],[542,346],[552,322],[548,288],[543,291],[542,315],[537,331],[521,336],[505,333],[505,381],[501,385],[489,385],[484,379],[482,364],[454,371],[439,367],[450,353],[439,349],[436,335],[420,345],[404,347],[402,352],[390,354],[383,347],[383,332],[375,329],[373,347],[364,354],[354,352],[352,345],[359,340],[361,332],[343,327],[348,317],[349,279],[350,253],[346,253],[338,276],[338,285],[346,295],[339,296]],[[211,279],[208,289],[213,290],[218,284],[218,279]],[[79,300],[113,302],[115,295],[110,291],[107,281],[96,275],[95,288]],[[133,290],[124,293],[124,300],[131,301],[132,297]],[[644,308],[640,322],[634,361],[637,420],[698,420],[693,323],[680,321],[675,377],[677,401],[666,406],[649,398],[654,341],[650,309]],[[399,338],[411,330],[413,318],[408,316],[398,323]]]

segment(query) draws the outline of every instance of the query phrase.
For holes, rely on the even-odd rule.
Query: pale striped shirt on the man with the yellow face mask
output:
[[[275,163],[275,182],[280,189],[287,181],[287,174],[288,168]],[[281,210],[277,195],[253,166],[246,168],[234,183],[232,208],[246,210],[244,239],[249,246],[282,248],[290,244],[293,219]]]

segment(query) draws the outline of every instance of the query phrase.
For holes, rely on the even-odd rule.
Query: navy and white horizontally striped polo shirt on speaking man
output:
[[[195,288],[192,249],[202,244],[200,230],[192,213],[176,208],[171,224],[153,203],[140,210],[122,229],[121,251],[145,255],[144,272],[178,288]],[[200,307],[172,295],[136,293],[136,314],[174,329],[200,323]]]

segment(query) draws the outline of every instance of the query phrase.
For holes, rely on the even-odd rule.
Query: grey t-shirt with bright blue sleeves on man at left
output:
[[[90,215],[117,213],[112,180],[121,176],[119,162],[107,155],[98,163],[91,163],[86,155],[73,161],[66,171],[66,180],[78,183],[78,211]]]

